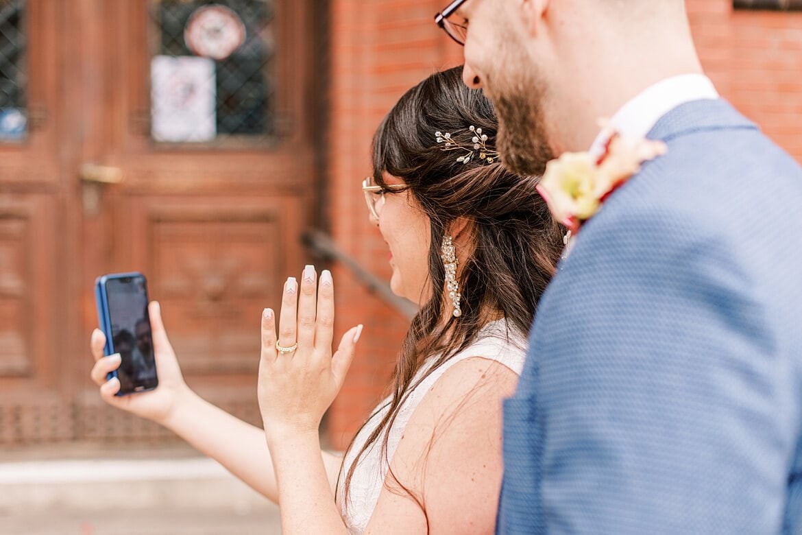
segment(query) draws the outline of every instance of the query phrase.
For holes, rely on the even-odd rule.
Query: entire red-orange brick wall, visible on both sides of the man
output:
[[[433,23],[446,0],[331,0],[329,193],[334,240],[389,278],[387,248],[369,225],[359,182],[370,174],[371,136],[396,99],[431,72],[461,63]],[[687,0],[703,65],[724,97],[802,161],[802,14],[733,11],[731,0]],[[338,330],[364,323],[346,384],[329,415],[342,448],[386,387],[407,320],[342,268]]]

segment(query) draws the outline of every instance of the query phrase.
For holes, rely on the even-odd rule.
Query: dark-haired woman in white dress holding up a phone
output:
[[[95,330],[100,395],[167,426],[277,501],[284,533],[492,533],[501,403],[516,386],[562,246],[536,180],[500,163],[496,129],[492,104],[454,68],[407,91],[375,134],[363,193],[390,249],[391,288],[420,311],[387,398],[344,455],[322,452],[318,425],[362,326],[332,355],[334,282],[313,266],[287,279],[277,318],[271,309],[262,316],[264,431],[189,390],[156,302],[160,386],[115,397],[119,383],[105,378],[119,357],[103,357]]]

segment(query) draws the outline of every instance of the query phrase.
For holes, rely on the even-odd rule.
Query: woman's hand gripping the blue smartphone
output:
[[[181,375],[176,353],[172,351],[167,333],[164,331],[159,303],[151,302],[148,305],[148,312],[159,386],[152,391],[116,396],[115,394],[119,391],[119,380],[116,378],[106,379],[106,376],[110,371],[119,367],[119,354],[103,356],[106,337],[99,329],[92,331],[89,342],[92,356],[95,358],[91,379],[100,387],[100,397],[112,407],[118,407],[156,423],[165,424],[180,401],[180,396],[188,392],[188,387],[184,383],[184,376]]]

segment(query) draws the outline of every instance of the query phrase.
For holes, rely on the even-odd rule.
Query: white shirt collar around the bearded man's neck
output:
[[[718,98],[718,91],[715,91],[713,83],[705,75],[678,75],[663,79],[646,87],[624,104],[610,120],[608,127],[593,140],[590,152],[601,155],[610,132],[618,132],[627,137],[646,137],[662,116],[680,104]]]

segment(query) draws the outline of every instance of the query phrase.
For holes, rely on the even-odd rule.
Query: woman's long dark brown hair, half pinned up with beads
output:
[[[453,139],[471,146],[475,134],[470,126],[481,128],[488,136],[488,148],[496,146],[498,121],[492,103],[482,91],[465,87],[461,67],[455,67],[431,75],[407,91],[374,136],[376,184],[386,185],[384,173],[403,179],[431,220],[431,298],[412,319],[403,341],[389,410],[348,468],[345,503],[359,458],[382,436],[387,455],[389,429],[404,399],[420,381],[474,342],[490,317],[503,316],[508,329],[529,331],[537,302],[560,257],[562,231],[535,190],[537,177],[512,174],[497,158],[488,164],[478,151],[465,164],[457,159],[467,151],[441,150],[444,145],[437,143],[435,132],[449,132]],[[395,194],[391,190],[384,193]],[[455,318],[444,290],[440,244],[457,217],[469,221],[472,248],[458,272],[462,314]],[[415,379],[432,355],[436,355],[435,363],[422,378]]]

